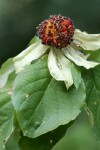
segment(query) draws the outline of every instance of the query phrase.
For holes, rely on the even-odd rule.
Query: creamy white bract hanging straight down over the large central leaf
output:
[[[65,81],[67,88],[73,84],[71,62],[60,50],[51,48],[48,56],[48,68],[53,78]]]

